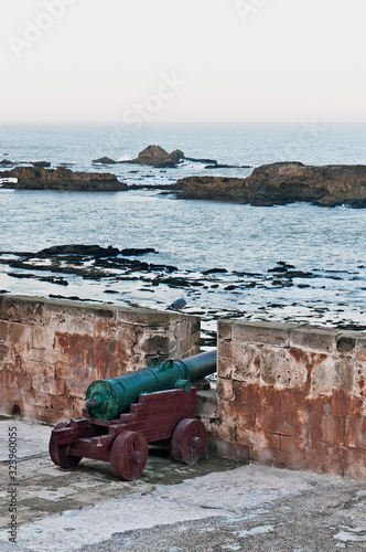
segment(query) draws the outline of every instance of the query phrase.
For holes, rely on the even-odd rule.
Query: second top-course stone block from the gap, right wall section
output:
[[[290,331],[290,347],[332,353],[340,331],[333,329],[298,327]]]

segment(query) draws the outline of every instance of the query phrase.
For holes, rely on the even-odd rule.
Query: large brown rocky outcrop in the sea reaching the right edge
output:
[[[366,208],[366,166],[306,167],[279,162],[255,169],[246,179],[190,177],[177,181],[180,199],[202,199],[283,205],[297,201],[316,205]]]

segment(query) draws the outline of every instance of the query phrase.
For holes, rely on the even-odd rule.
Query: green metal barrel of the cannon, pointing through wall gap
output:
[[[192,382],[216,371],[217,350],[189,359],[158,361],[136,372],[117,378],[97,380],[86,392],[86,407],[98,420],[112,420],[134,403],[140,393],[183,388],[190,391]]]

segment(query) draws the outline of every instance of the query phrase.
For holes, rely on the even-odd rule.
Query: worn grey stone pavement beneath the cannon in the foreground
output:
[[[8,428],[17,428],[20,523],[9,543]],[[47,455],[51,427],[0,421],[0,551],[366,550],[366,481],[204,458],[176,464],[151,452],[136,481],[83,460]]]

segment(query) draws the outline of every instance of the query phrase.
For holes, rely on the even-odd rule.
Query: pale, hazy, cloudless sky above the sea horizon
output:
[[[365,0],[0,0],[0,123],[366,121]]]

